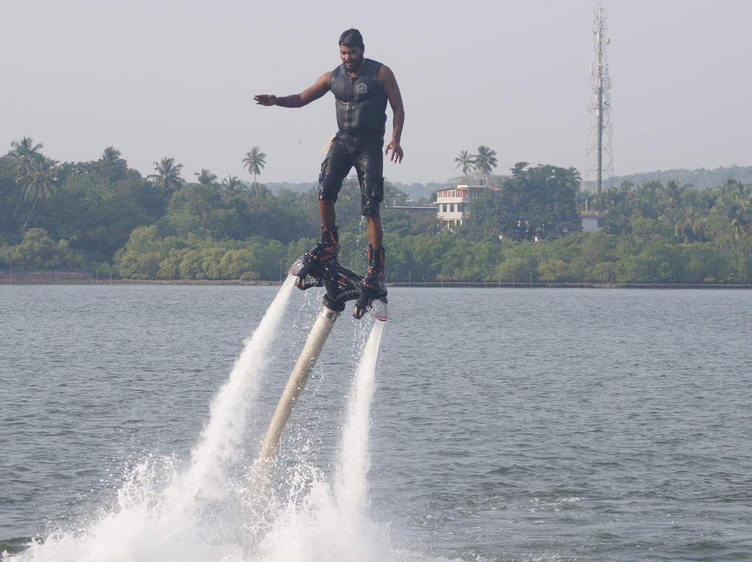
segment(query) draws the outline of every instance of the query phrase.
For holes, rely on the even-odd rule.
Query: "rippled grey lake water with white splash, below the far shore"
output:
[[[249,349],[279,287],[0,286],[3,556],[242,560],[248,467],[317,291],[293,290],[273,341]],[[750,304],[391,289],[354,515],[338,471],[373,321],[343,313],[252,558],[752,560]]]

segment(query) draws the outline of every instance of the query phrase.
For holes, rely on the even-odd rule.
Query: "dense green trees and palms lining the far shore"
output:
[[[96,162],[63,164],[41,148],[24,138],[0,158],[0,268],[276,281],[318,234],[316,186],[272,193],[208,170],[189,183],[170,158],[143,177],[111,147]],[[749,184],[624,182],[595,193],[579,181],[572,168],[520,163],[453,231],[435,213],[399,209],[406,195],[387,183],[389,281],[752,283]],[[337,210],[341,261],[356,270],[368,243],[359,207],[350,177]],[[600,214],[602,231],[581,232],[584,209]]]

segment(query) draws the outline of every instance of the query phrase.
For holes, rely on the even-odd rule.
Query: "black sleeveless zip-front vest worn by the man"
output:
[[[329,79],[335,96],[339,131],[356,138],[384,139],[387,122],[387,95],[378,85],[381,62],[365,59],[357,77],[347,75],[339,65]]]

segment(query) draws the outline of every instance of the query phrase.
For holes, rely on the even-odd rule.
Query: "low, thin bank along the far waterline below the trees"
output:
[[[240,279],[96,279],[91,273],[70,271],[0,270],[0,285],[198,285],[198,286],[280,286],[282,281],[241,281]],[[725,283],[506,283],[490,281],[435,281],[387,283],[387,287],[423,289],[752,289],[752,285]]]

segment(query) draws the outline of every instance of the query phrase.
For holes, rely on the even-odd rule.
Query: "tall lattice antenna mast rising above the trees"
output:
[[[606,46],[611,40],[606,37],[608,14],[599,5],[593,11],[593,51],[594,60],[590,63],[590,134],[587,143],[586,180],[593,181],[596,191],[603,187],[604,175],[610,186],[614,185],[614,159],[611,154],[611,78],[608,77],[608,56]]]

